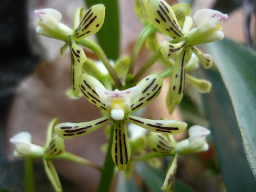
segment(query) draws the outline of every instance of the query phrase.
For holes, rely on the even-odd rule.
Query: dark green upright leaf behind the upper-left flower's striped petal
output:
[[[94,4],[104,4],[106,6],[105,21],[96,34],[100,46],[106,53],[109,59],[116,60],[119,56],[119,12],[118,0],[84,0],[88,8]],[[109,49],[111,47],[111,49]]]

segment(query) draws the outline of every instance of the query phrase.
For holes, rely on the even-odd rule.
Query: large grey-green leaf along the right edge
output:
[[[256,177],[256,54],[228,39],[209,44],[206,48],[227,88],[244,151]]]

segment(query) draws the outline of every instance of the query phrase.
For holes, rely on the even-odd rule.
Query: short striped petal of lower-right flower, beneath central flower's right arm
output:
[[[148,146],[152,151],[161,154],[171,154],[176,150],[175,143],[171,143],[166,135],[157,132],[148,133]]]

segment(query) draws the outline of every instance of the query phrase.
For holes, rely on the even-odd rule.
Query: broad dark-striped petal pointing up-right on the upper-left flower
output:
[[[80,22],[79,26],[74,29],[74,38],[81,40],[82,38],[86,38],[86,36],[97,33],[104,23],[105,9],[103,4],[96,4],[84,13],[83,20]]]

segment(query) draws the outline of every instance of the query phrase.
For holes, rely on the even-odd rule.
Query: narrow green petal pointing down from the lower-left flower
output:
[[[57,192],[61,192],[62,187],[61,187],[59,175],[54,167],[54,164],[50,159],[43,158],[43,161],[44,161],[45,172],[47,174],[48,179],[51,181],[54,190]]]

